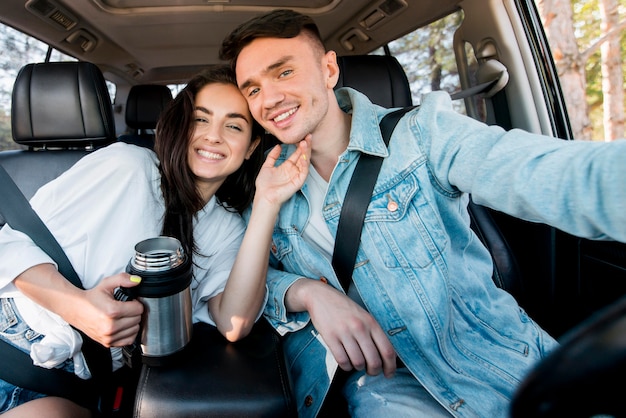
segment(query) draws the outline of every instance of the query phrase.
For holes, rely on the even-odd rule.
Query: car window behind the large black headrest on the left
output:
[[[0,151],[20,149],[11,136],[11,94],[19,70],[26,64],[46,61],[48,45],[0,22]],[[76,58],[52,49],[49,61],[76,61]],[[115,84],[107,81],[111,100]]]

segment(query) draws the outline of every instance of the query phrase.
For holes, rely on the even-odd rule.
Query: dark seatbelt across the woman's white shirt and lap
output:
[[[6,223],[11,228],[28,235],[57,263],[59,272],[74,286],[82,289],[82,282],[65,252],[2,165],[0,165],[0,196],[3,196],[0,202],[0,214]],[[0,340],[0,356],[3,361],[0,378],[14,385],[48,395],[63,396],[72,400],[76,400],[76,394],[88,397],[85,392],[90,390],[94,381],[107,382],[110,378],[111,351],[82,331],[78,330],[78,332],[83,339],[82,352],[91,372],[92,381],[85,381],[73,373],[58,369],[35,366],[28,354],[3,340]],[[63,376],[61,373],[68,376]]]

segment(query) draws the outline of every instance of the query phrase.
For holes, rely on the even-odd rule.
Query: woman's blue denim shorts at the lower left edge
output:
[[[13,299],[0,299],[0,339],[18,347],[25,353],[29,353],[30,347],[43,339],[43,337],[42,334],[30,329],[28,324],[22,319],[15,308]],[[61,367],[70,372],[74,370],[74,364],[71,360],[67,360]],[[0,379],[0,414],[44,396],[46,395],[15,386]]]

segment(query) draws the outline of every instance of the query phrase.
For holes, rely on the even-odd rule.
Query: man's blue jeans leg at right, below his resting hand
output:
[[[343,388],[351,417],[451,418],[406,367],[392,378],[354,372]]]

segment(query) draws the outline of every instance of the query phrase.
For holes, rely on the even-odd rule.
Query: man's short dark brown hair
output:
[[[309,35],[322,53],[324,43],[317,25],[310,16],[293,10],[279,9],[252,18],[233,30],[220,48],[220,59],[229,61],[235,68],[241,50],[257,38],[295,38],[301,33]]]

